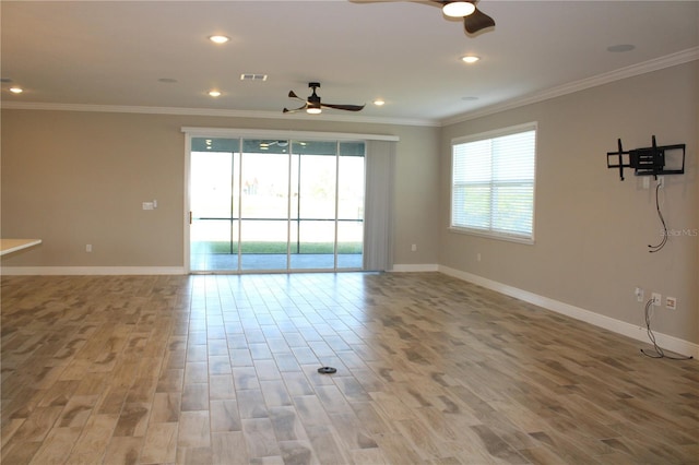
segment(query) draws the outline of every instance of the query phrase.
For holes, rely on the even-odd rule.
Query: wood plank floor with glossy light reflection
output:
[[[5,276],[2,464],[699,463],[643,347],[438,273]]]

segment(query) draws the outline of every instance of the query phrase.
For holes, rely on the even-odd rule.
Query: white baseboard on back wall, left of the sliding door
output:
[[[55,275],[179,275],[186,274],[183,266],[2,266],[0,274],[7,276],[55,276]]]

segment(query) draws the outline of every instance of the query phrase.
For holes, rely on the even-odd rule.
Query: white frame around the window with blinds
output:
[[[491,224],[487,229],[482,228],[471,228],[467,226],[454,225],[454,192],[457,183],[454,182],[454,163],[455,163],[455,146],[479,142],[479,141],[488,141],[497,138],[502,138],[507,135],[513,135],[524,132],[534,131],[534,156],[532,160],[532,228],[530,235],[516,234],[511,231],[500,230],[497,228],[493,228]],[[466,234],[471,236],[481,236],[487,237],[490,239],[506,240],[525,245],[534,243],[534,230],[535,230],[535,218],[536,218],[536,158],[537,158],[537,146],[538,146],[538,123],[536,121],[511,126],[507,128],[500,128],[493,131],[481,132],[477,134],[464,135],[454,138],[451,140],[450,148],[451,148],[451,166],[450,166],[450,180],[449,180],[449,228],[448,230],[457,234]],[[524,181],[528,186],[530,183],[529,180]],[[494,180],[493,176],[490,176],[488,180],[488,184],[490,187],[490,192],[493,192]],[[460,183],[463,186],[463,182]],[[493,218],[493,204],[489,208],[489,218]]]

